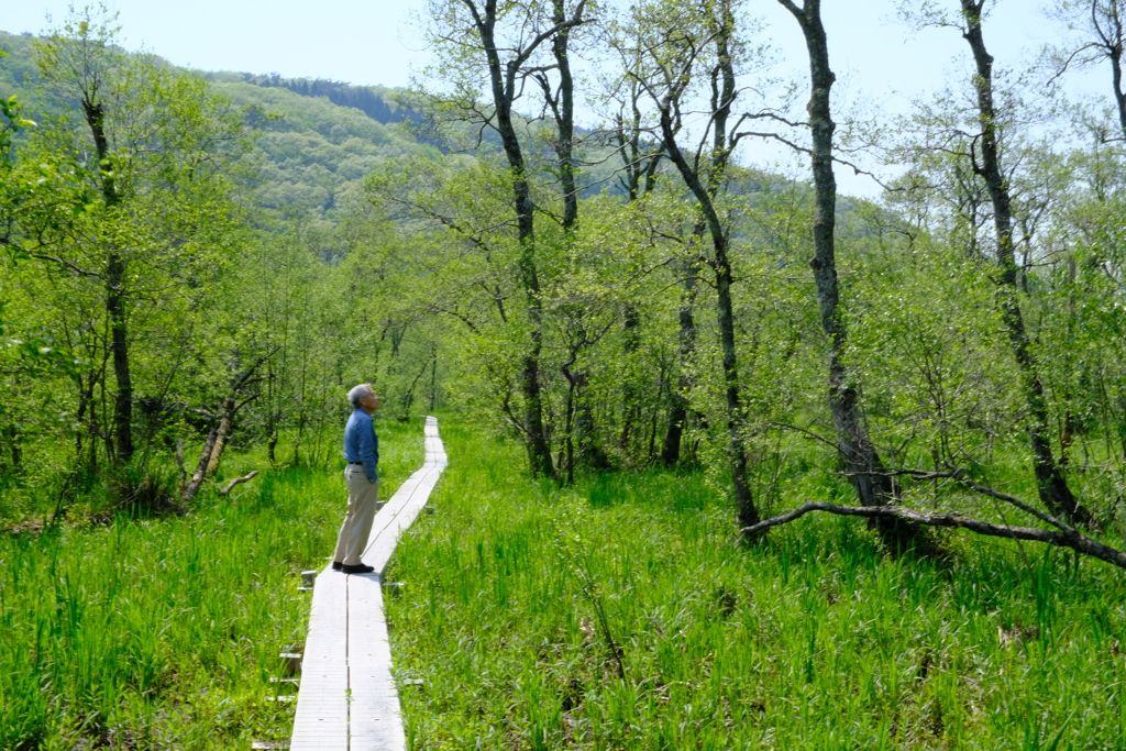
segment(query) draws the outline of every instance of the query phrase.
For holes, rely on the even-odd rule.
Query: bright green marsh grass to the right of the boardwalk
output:
[[[701,476],[558,490],[441,433],[437,515],[388,572],[412,749],[1126,748],[1117,569],[957,534],[894,557],[816,516],[748,547]]]

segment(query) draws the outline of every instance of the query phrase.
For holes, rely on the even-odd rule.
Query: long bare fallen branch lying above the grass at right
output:
[[[923,513],[909,509],[905,506],[838,506],[837,503],[821,503],[806,501],[789,513],[765,519],[757,525],[743,528],[743,535],[754,538],[770,527],[777,527],[795,519],[801,519],[811,511],[826,511],[844,517],[867,517],[867,518],[893,518],[902,519],[911,524],[924,527],[953,527],[957,529],[968,529],[978,535],[990,537],[1007,537],[1009,539],[1028,539],[1036,543],[1045,543],[1057,547],[1070,547],[1073,551],[1089,555],[1100,561],[1106,561],[1119,569],[1126,569],[1126,553],[1112,548],[1109,545],[1091,539],[1079,531],[1053,531],[1039,529],[1037,527],[1010,527],[1007,525],[995,525],[980,519],[971,519],[960,513]]]

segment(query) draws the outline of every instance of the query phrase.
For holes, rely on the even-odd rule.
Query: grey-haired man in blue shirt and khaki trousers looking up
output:
[[[379,409],[379,397],[372,386],[361,383],[348,392],[355,408],[345,426],[345,479],[348,481],[348,513],[337,538],[332,569],[346,574],[368,574],[374,566],[359,560],[372,531],[379,500],[379,436],[375,432],[372,412]]]

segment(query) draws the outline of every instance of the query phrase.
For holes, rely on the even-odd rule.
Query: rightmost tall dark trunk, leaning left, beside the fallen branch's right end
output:
[[[1028,404],[1028,438],[1033,448],[1033,464],[1040,501],[1055,516],[1089,525],[1092,521],[1090,512],[1079,503],[1071,492],[1063,470],[1056,463],[1052,452],[1052,444],[1048,440],[1051,422],[1044,384],[1037,372],[1036,359],[1029,346],[1025,319],[1017,297],[1017,262],[1012,241],[1012,198],[1001,171],[997,108],[993,104],[993,57],[985,50],[981,26],[983,5],[984,0],[976,2],[962,0],[962,12],[966,23],[963,36],[973,51],[977,69],[974,87],[977,90],[977,111],[981,118],[982,134],[980,140],[981,163],[975,163],[974,170],[984,178],[993,204],[997,260],[1001,267],[999,279],[1001,315],[1009,334],[1009,342],[1016,355],[1017,365],[1020,368]]]

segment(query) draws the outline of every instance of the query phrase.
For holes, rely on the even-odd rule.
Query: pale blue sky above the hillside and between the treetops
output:
[[[81,1],[81,0],[80,0]],[[1040,12],[1045,0],[999,0],[984,24],[998,64],[1027,65],[1058,36]],[[954,7],[954,0],[938,5]],[[66,16],[70,0],[0,0],[0,30],[39,33]],[[124,46],[145,48],[173,64],[199,70],[280,73],[355,84],[405,86],[429,61],[420,28],[423,0],[108,0],[119,14]],[[805,74],[805,45],[790,17],[774,0],[751,0],[765,34],[787,57],[779,71]],[[46,20],[53,17],[54,24]],[[954,29],[913,32],[895,14],[895,0],[824,0],[830,60],[839,100],[881,111],[906,111],[912,99],[940,89],[950,75],[965,79],[968,46]],[[1109,93],[1109,70],[1069,80],[1078,91]],[[593,125],[595,123],[586,123]],[[849,171],[850,172],[850,171]],[[839,172],[847,193],[878,188]]]

